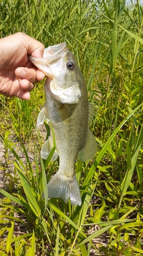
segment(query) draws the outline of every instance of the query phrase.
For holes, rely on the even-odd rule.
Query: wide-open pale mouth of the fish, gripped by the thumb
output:
[[[49,46],[43,51],[43,58],[34,58],[29,56],[30,61],[41,70],[46,76],[53,79],[50,65],[55,64],[67,53],[66,42]]]

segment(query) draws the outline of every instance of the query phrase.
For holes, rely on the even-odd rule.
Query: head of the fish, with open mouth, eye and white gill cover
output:
[[[63,104],[78,103],[83,76],[66,43],[49,46],[42,59],[30,56],[30,61],[48,77],[45,86],[49,87],[52,97]]]

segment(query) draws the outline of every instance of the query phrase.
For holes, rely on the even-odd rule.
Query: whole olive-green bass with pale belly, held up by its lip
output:
[[[51,160],[59,156],[59,169],[49,180],[48,198],[61,198],[66,203],[81,206],[75,163],[90,160],[97,152],[95,136],[89,129],[94,109],[88,103],[86,82],[67,44],[47,47],[43,58],[30,61],[46,76],[45,104],[39,113],[37,125],[49,122],[50,136],[41,149],[47,159],[54,147]],[[54,131],[54,135],[53,132]]]

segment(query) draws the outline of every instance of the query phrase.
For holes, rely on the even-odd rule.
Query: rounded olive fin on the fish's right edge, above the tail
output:
[[[95,153],[97,152],[97,141],[92,134],[92,132],[88,129],[88,135],[86,138],[85,146],[83,146],[82,149],[80,149],[77,158],[82,161],[88,161],[90,160]]]

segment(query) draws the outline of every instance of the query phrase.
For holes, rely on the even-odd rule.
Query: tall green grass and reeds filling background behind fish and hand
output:
[[[58,169],[58,161],[39,158],[43,138],[36,119],[44,82],[29,101],[0,96],[0,168],[9,180],[1,189],[1,256],[143,255],[143,6],[129,2],[0,1],[1,37],[21,31],[45,47],[67,42],[97,108],[91,129],[98,142],[95,159],[76,163],[82,206],[43,199]]]

